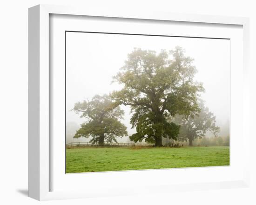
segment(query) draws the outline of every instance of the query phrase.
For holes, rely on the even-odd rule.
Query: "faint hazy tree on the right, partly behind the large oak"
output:
[[[207,131],[215,136],[220,132],[220,128],[216,126],[216,117],[213,113],[204,106],[202,100],[198,104],[201,109],[198,115],[190,115],[189,117],[179,115],[175,117],[175,123],[181,125],[178,140],[189,140],[189,146],[193,146],[193,141],[196,138],[201,139]]]

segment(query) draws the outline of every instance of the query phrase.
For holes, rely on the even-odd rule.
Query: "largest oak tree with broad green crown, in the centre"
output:
[[[130,120],[136,133],[131,141],[142,141],[162,146],[162,137],[176,139],[179,125],[168,122],[168,117],[191,115],[199,111],[198,92],[202,83],[193,80],[197,72],[193,59],[184,55],[181,47],[174,51],[135,49],[128,54],[114,81],[124,85],[114,91],[112,98],[119,104],[131,106]]]

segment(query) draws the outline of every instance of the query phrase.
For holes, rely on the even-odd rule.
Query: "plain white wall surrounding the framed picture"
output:
[[[254,0],[4,0],[0,4],[0,203],[39,204],[27,197],[28,157],[28,7],[37,4],[92,6],[108,9],[168,11],[250,18],[251,128],[256,105],[256,13]],[[254,90],[253,90],[254,89]],[[239,109],[239,108],[238,108]],[[251,131],[251,186],[243,189],[175,192],[41,202],[44,204],[256,204],[256,140]]]

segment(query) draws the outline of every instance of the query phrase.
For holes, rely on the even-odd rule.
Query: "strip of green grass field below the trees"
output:
[[[229,165],[229,147],[71,148],[66,173]]]

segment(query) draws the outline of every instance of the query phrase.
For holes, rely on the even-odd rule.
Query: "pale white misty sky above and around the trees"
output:
[[[135,47],[159,52],[173,50],[177,45],[194,58],[198,70],[195,80],[202,82],[205,89],[202,99],[222,128],[229,122],[229,40],[77,32],[67,32],[67,122],[81,124],[85,120],[70,111],[75,102],[121,89],[121,85],[111,83],[112,77]],[[123,123],[131,135],[134,130],[129,124],[130,109],[121,108],[125,110]]]

